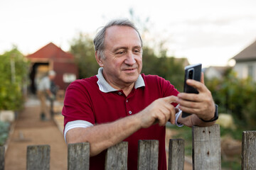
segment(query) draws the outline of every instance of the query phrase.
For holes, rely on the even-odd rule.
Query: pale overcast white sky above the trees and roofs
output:
[[[113,18],[148,28],[144,42],[165,42],[168,54],[203,67],[230,59],[256,40],[255,0],[1,0],[0,54],[18,47],[23,55],[49,42],[68,51],[79,33],[91,35]]]

